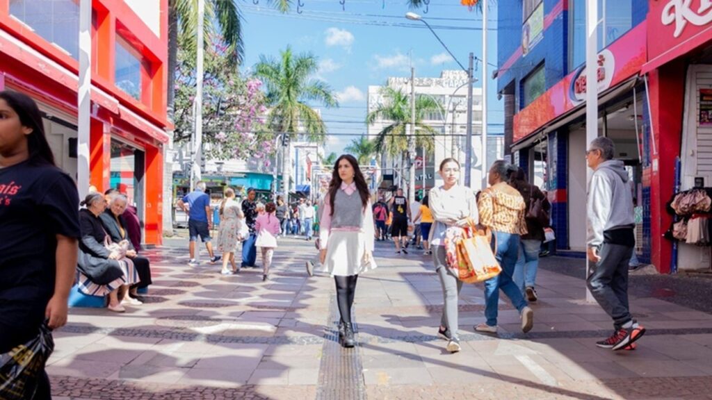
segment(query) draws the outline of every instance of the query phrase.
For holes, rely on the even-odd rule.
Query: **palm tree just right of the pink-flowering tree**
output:
[[[290,46],[280,54],[279,59],[260,56],[255,65],[255,75],[267,90],[267,125],[290,139],[304,134],[313,142],[323,142],[326,125],[308,102],[320,102],[326,107],[338,107],[338,102],[327,83],[313,78],[318,71],[318,58],[310,53],[295,55]],[[286,151],[283,157],[285,194],[289,189],[289,156]]]

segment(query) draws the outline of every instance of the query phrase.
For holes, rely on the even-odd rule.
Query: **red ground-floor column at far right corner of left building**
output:
[[[163,149],[146,147],[145,242],[160,245],[163,239]]]

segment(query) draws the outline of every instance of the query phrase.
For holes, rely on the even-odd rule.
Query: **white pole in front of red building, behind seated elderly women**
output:
[[[89,191],[89,138],[91,131],[91,0],[79,4],[79,88],[77,90],[77,185],[80,198]],[[104,191],[104,188],[97,188]]]

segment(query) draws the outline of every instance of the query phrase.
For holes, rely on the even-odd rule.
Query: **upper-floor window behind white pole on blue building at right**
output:
[[[586,61],[586,0],[569,0],[569,70]],[[633,27],[632,0],[598,0],[598,51]]]

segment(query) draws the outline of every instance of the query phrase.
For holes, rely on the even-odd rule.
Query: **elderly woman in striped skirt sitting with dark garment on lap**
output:
[[[108,309],[125,312],[121,305],[130,285],[139,283],[132,261],[126,258],[127,243],[115,244],[99,216],[106,209],[104,196],[90,193],[79,211],[82,239],[79,242],[79,290],[87,295],[109,296]]]

